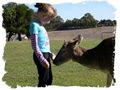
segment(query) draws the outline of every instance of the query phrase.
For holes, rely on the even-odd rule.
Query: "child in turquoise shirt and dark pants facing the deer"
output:
[[[30,24],[31,45],[33,48],[33,59],[38,70],[38,87],[52,84],[52,71],[50,58],[54,60],[55,55],[50,52],[50,43],[46,29],[42,24],[50,23],[56,17],[56,10],[50,4],[36,3],[38,11]]]

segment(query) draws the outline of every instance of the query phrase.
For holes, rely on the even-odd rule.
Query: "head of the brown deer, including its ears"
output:
[[[54,59],[53,63],[55,65],[60,65],[74,57],[74,55],[82,55],[83,51],[79,46],[80,42],[82,41],[83,37],[78,35],[77,37],[63,43],[62,48],[59,50],[56,58]]]

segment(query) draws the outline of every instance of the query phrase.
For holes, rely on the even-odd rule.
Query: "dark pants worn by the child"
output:
[[[49,62],[50,67],[48,69],[45,69],[40,61],[38,60],[35,53],[33,53],[33,60],[37,66],[38,70],[38,87],[45,87],[46,85],[52,84],[52,70],[51,70],[51,63],[50,63],[50,54],[49,53],[43,53],[44,58]]]

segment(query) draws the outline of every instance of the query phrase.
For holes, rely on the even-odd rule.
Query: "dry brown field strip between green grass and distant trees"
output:
[[[84,40],[101,40],[112,37],[115,27],[97,27],[89,29],[58,30],[48,32],[50,40],[69,40],[81,34]]]

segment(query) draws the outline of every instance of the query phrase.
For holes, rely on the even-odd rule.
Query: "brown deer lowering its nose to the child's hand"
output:
[[[86,67],[99,69],[107,73],[107,84],[109,87],[115,83],[114,79],[114,45],[115,37],[104,39],[99,45],[92,49],[85,49],[79,45],[83,37],[78,35],[76,38],[64,42],[56,58],[53,60],[55,65],[60,65],[69,60],[73,60]]]

